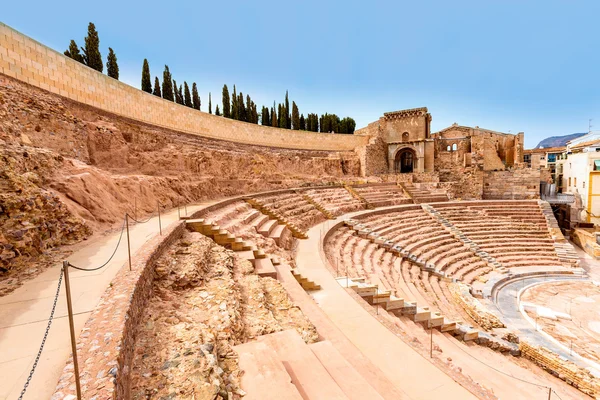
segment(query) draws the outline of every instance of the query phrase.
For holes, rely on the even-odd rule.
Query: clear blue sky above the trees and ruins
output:
[[[289,3],[289,4],[288,4]],[[545,137],[600,129],[596,1],[29,1],[0,20],[64,51],[92,21],[104,60],[140,86],[168,64],[198,84],[202,109],[235,83],[259,105],[351,116],[426,106],[432,131],[454,122]]]

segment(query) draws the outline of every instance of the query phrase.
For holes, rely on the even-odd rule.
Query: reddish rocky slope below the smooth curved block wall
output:
[[[43,271],[55,249],[120,226],[134,207],[144,218],[157,204],[173,208],[358,174],[353,152],[204,139],[0,76],[0,296]]]

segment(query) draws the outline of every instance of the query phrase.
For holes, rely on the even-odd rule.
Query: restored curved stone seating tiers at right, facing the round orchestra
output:
[[[537,202],[508,206],[448,203],[436,204],[436,209],[508,268],[560,266]],[[417,206],[366,214],[338,228],[324,246],[338,276],[365,278],[398,298],[474,325],[453,301],[448,284],[452,280],[472,284],[493,269],[472,247]]]

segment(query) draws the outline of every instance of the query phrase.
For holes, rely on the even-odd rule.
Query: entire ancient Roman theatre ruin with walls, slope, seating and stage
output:
[[[549,172],[523,133],[431,121],[234,121],[0,24],[0,398],[600,396]]]

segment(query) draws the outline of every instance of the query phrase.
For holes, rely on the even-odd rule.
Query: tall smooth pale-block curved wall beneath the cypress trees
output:
[[[354,150],[369,141],[368,136],[291,131],[193,110],[88,68],[1,22],[0,73],[123,117],[213,139],[327,151]]]

